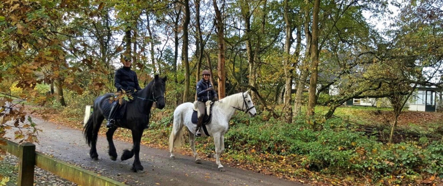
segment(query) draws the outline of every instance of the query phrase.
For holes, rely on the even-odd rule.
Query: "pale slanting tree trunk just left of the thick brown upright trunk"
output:
[[[302,63],[302,66],[299,67],[300,69],[300,78],[297,84],[297,91],[295,93],[295,103],[294,103],[294,113],[299,116],[301,114],[301,108],[302,108],[302,100],[303,100],[303,90],[305,87],[305,82],[307,79],[307,76],[309,74],[309,70],[307,67],[307,64],[309,62],[309,58],[311,58],[311,32],[309,31],[309,23],[311,22],[311,15],[310,15],[310,8],[309,8],[309,0],[305,1],[306,4],[306,10],[305,10],[305,21],[304,21],[304,33],[306,37],[306,51],[305,51],[305,57]]]

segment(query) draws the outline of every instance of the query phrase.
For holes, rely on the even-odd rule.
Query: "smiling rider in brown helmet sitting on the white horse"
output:
[[[197,120],[197,128],[195,129],[195,136],[202,136],[200,128],[202,127],[203,118],[205,117],[206,101],[218,101],[217,93],[215,92],[209,77],[211,76],[209,70],[203,70],[202,80],[197,83],[197,107],[200,111],[200,116]]]

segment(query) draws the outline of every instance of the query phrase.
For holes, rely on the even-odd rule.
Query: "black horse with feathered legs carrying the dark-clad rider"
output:
[[[134,145],[131,151],[128,149],[123,151],[121,160],[130,159],[135,155],[134,163],[132,163],[132,171],[134,172],[144,172],[139,159],[140,140],[145,126],[149,124],[152,104],[156,102],[158,109],[165,107],[164,92],[166,79],[166,77],[159,78],[159,75],[155,75],[148,86],[136,93],[134,101],[126,103],[126,114],[124,114],[122,120],[114,124],[116,127],[109,128],[108,132],[106,132],[106,138],[109,143],[109,157],[115,161],[117,159],[117,151],[112,139],[114,132],[117,130],[117,127],[128,128],[132,131],[132,141]],[[89,117],[88,122],[83,128],[86,142],[89,147],[91,147],[89,156],[91,156],[93,160],[98,160],[96,149],[98,130],[100,129],[101,122],[108,117],[103,115],[104,105],[106,101],[109,102],[109,98],[113,97],[113,95],[113,93],[107,93],[95,99],[92,116]]]

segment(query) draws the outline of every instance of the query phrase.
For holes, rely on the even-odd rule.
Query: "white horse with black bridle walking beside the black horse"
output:
[[[225,168],[220,163],[220,155],[225,151],[225,140],[223,135],[229,128],[229,120],[231,120],[236,110],[241,110],[249,113],[249,116],[256,116],[256,109],[248,94],[237,93],[225,97],[220,101],[216,101],[212,106],[212,120],[206,124],[208,134],[214,137],[215,158],[219,171],[225,171]],[[183,144],[183,126],[186,125],[189,132],[189,143],[195,156],[195,163],[201,163],[202,160],[198,157],[194,146],[195,128],[196,124],[191,122],[192,110],[194,104],[183,103],[179,105],[174,111],[174,124],[172,125],[171,135],[169,136],[169,150],[171,152],[171,159],[175,159],[174,147],[179,147]],[[206,136],[202,132],[202,136]],[[211,155],[213,157],[214,155]]]

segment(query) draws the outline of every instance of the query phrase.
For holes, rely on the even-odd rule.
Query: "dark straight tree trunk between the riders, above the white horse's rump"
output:
[[[183,64],[185,65],[185,91],[183,93],[183,103],[188,101],[189,85],[190,85],[190,70],[188,61],[188,26],[190,21],[189,0],[184,0],[185,4],[185,21],[183,22]]]

